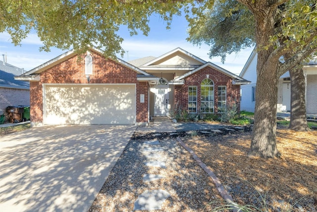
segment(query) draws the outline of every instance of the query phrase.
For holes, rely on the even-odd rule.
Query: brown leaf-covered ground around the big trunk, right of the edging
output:
[[[317,132],[279,129],[280,159],[247,157],[251,136],[249,132],[183,141],[211,167],[238,204],[262,208],[260,201],[269,211],[316,212]]]

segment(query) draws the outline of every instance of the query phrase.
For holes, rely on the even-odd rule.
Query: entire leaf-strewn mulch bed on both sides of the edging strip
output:
[[[166,212],[213,211],[224,206],[211,178],[176,141],[180,137],[239,205],[250,205],[254,212],[317,212],[317,131],[278,128],[277,148],[282,154],[278,159],[247,156],[251,127],[222,129],[221,133],[135,133],[89,211],[132,211],[134,201],[146,189],[164,189],[171,194],[162,206]],[[144,166],[142,145],[154,140],[164,148],[167,169]],[[144,173],[166,178],[144,183]]]

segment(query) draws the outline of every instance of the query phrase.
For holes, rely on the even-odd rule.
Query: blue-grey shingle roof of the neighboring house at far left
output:
[[[0,87],[29,90],[29,82],[23,82],[14,79],[14,76],[20,75],[22,73],[23,69],[0,61]]]

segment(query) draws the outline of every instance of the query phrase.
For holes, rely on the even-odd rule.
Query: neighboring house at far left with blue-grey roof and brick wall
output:
[[[23,69],[0,61],[0,110],[15,105],[30,105],[30,83],[15,80],[14,76],[21,75]]]

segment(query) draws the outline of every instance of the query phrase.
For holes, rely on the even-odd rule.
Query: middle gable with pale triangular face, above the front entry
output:
[[[175,59],[176,57],[180,60],[179,62],[186,61],[187,63],[169,64],[169,60]],[[189,61],[191,61],[190,64]],[[143,64],[139,68],[142,70],[193,70],[205,63],[206,61],[178,47]]]

